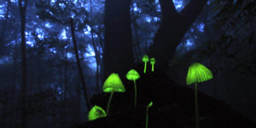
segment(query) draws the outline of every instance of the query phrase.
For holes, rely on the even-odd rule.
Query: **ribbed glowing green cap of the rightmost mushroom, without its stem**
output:
[[[189,72],[187,74],[186,83],[194,84],[199,82],[204,82],[212,79],[212,72],[199,62],[195,62],[190,65]]]

